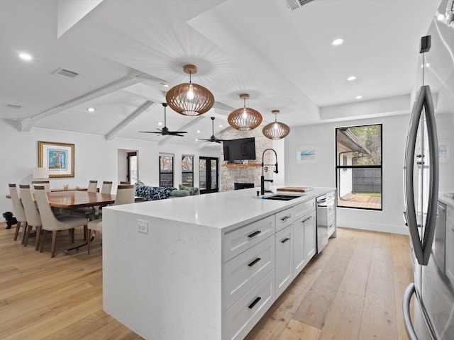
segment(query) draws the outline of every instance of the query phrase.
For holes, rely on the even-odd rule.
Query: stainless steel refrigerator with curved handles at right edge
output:
[[[452,13],[451,13],[452,12]],[[404,322],[409,339],[454,339],[454,285],[445,276],[445,209],[439,193],[453,191],[454,162],[438,145],[454,136],[453,0],[443,0],[421,38],[417,81],[404,163],[405,222],[411,239],[414,283],[406,289]],[[413,298],[412,298],[413,297]],[[413,318],[411,318],[411,300]]]

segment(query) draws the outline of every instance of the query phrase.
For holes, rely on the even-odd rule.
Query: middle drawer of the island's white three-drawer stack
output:
[[[274,243],[275,238],[268,237],[224,264],[224,310],[275,268]]]

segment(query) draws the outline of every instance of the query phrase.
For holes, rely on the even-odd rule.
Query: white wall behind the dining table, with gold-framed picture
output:
[[[196,149],[187,145],[158,146],[154,142],[114,139],[82,133],[62,132],[34,128],[31,132],[18,132],[6,120],[0,120],[1,147],[3,160],[0,168],[0,212],[13,211],[8,183],[30,184],[33,168],[38,166],[38,141],[65,142],[74,144],[74,178],[50,179],[50,188],[87,187],[90,180],[113,181],[118,183],[118,149],[138,150],[139,179],[150,186],[159,185],[159,152],[175,154],[174,186],[182,181],[181,156],[194,154],[194,185],[199,183],[199,156],[219,157],[219,150],[206,147]],[[114,192],[114,191],[113,191]]]

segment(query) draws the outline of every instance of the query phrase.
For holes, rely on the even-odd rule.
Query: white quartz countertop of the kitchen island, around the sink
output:
[[[267,193],[265,196],[286,194],[300,197],[287,201],[264,200],[260,196],[257,197],[257,191],[260,191],[260,188],[248,188],[198,196],[113,205],[103,208],[103,210],[112,209],[131,212],[135,215],[186,222],[192,225],[201,225],[216,229],[233,229],[239,225],[260,220],[263,217],[273,215],[286,208],[291,208],[306,200],[312,200],[325,193],[336,190],[336,188],[313,188],[312,191],[306,193],[291,193],[276,191],[276,188],[279,187],[271,187],[270,189],[273,193]],[[106,210],[104,211],[107,212]]]

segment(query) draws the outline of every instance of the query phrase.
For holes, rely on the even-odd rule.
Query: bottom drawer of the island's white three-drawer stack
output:
[[[274,280],[273,270],[224,313],[222,339],[244,339],[253,329],[275,301]]]

